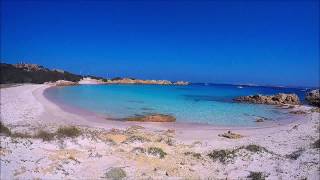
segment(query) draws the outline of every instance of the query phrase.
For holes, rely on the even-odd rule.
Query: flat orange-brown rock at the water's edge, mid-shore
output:
[[[151,114],[145,116],[134,116],[125,118],[126,121],[139,121],[139,122],[175,122],[176,118],[165,114]]]

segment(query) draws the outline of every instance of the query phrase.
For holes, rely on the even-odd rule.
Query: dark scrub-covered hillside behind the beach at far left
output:
[[[81,75],[72,74],[63,70],[50,70],[36,64],[0,64],[0,83],[36,83],[67,80],[77,82]]]

